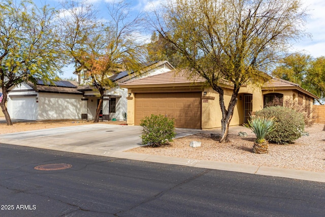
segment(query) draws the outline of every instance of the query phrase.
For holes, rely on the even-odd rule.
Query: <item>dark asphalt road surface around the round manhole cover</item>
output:
[[[34,167],[64,163],[69,169]],[[0,144],[0,216],[324,216],[325,183]]]

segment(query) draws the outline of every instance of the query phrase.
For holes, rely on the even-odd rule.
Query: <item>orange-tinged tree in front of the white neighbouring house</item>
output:
[[[59,20],[63,50],[77,72],[90,77],[90,85],[99,91],[99,105],[94,122],[99,121],[105,90],[116,84],[109,77],[123,70],[137,71],[143,61],[143,46],[137,30],[140,16],[129,17],[123,2],[108,4],[108,18],[98,19],[96,10],[86,2],[63,4]]]

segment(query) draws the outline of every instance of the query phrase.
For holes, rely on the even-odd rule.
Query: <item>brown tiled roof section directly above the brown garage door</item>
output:
[[[164,86],[170,84],[173,84],[174,86],[184,86],[189,84],[202,84],[206,82],[206,79],[204,79],[200,75],[193,75],[190,78],[188,77],[188,75],[190,75],[189,70],[172,70],[158,75],[153,75],[146,78],[125,82],[122,83],[120,86]]]

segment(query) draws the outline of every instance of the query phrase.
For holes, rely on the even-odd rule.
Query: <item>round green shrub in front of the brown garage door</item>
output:
[[[152,114],[150,117],[144,117],[141,119],[140,126],[143,127],[141,135],[142,143],[149,143],[152,147],[171,142],[176,135],[174,119],[170,119],[161,114]]]

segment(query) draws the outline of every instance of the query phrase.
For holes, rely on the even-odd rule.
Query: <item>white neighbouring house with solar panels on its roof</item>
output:
[[[173,70],[168,61],[143,64],[141,73],[121,72],[110,79],[117,84]],[[82,83],[82,84],[80,84]],[[11,118],[27,120],[94,119],[99,92],[78,75],[78,81],[44,84],[21,83],[9,89],[7,108]],[[123,120],[127,111],[127,89],[108,88],[104,93],[102,118]]]

